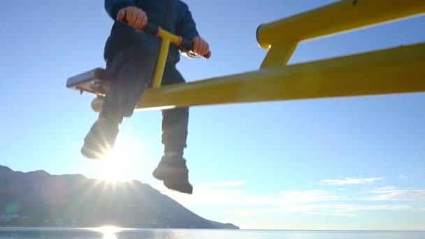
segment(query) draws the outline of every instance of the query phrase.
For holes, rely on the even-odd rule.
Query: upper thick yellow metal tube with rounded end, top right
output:
[[[280,41],[303,41],[422,13],[423,0],[343,0],[262,24],[257,40],[268,49]]]

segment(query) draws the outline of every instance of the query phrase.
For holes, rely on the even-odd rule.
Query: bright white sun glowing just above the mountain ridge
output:
[[[127,141],[127,140],[126,140]],[[117,142],[114,150],[99,161],[99,171],[101,180],[113,182],[125,182],[133,180],[131,171],[137,164],[140,164],[140,152],[132,147],[130,142]]]

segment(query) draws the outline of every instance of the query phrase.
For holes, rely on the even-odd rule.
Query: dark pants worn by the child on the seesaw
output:
[[[143,90],[152,84],[159,50],[128,48],[108,59],[106,70],[111,75],[110,92],[106,94],[100,117],[121,124],[131,117]],[[174,64],[166,64],[161,85],[185,82]],[[162,139],[165,152],[182,153],[186,147],[189,108],[162,110]]]

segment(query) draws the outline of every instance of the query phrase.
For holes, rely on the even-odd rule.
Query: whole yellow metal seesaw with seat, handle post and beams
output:
[[[154,84],[136,110],[229,103],[317,99],[339,96],[425,92],[425,43],[287,65],[299,42],[425,13],[421,0],[345,0],[309,10],[257,29],[268,50],[257,71],[160,87],[169,44],[181,39],[164,29]],[[423,29],[418,29],[422,32]],[[94,94],[99,112],[109,83],[103,68],[69,78],[66,87]]]

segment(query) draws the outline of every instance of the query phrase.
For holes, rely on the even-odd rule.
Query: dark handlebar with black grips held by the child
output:
[[[118,15],[117,20],[118,22],[122,22],[122,24],[128,25],[128,22],[125,18],[125,11],[120,12],[120,15]],[[188,51],[189,52],[188,54],[191,57],[199,57],[199,55],[194,53],[194,42],[187,38],[182,38],[182,36],[171,34],[170,32],[162,29],[157,24],[154,24],[152,22],[147,22],[147,24],[145,24],[145,27],[143,27],[142,30],[147,32],[148,34],[152,34],[158,37],[162,37],[164,36],[164,34],[168,34],[170,36],[178,38],[177,42],[173,42],[174,45],[178,46],[179,48],[182,48],[182,50]],[[211,51],[209,51],[206,55],[203,55],[203,57],[205,57],[206,59],[209,59],[211,57]]]

